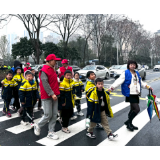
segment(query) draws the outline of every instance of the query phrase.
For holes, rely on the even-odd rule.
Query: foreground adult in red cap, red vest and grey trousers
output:
[[[60,96],[57,74],[55,71],[56,61],[60,61],[54,54],[46,58],[46,65],[43,65],[39,73],[41,100],[44,109],[44,116],[34,125],[35,135],[40,135],[40,129],[49,121],[48,138],[58,139],[54,133],[58,113],[58,97]]]

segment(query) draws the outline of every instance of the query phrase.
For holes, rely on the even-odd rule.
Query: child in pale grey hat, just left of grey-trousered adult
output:
[[[34,75],[30,71],[26,71],[25,77],[26,77],[26,80],[23,81],[19,89],[20,102],[23,107],[21,124],[22,125],[28,124],[25,122],[25,117],[27,115],[31,128],[33,128],[34,122],[32,118],[33,117],[32,111],[33,111],[34,105],[39,100],[39,93],[37,89],[37,83],[36,81],[33,80]]]

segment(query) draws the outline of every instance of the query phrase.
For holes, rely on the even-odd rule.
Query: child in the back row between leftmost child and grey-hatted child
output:
[[[19,66],[15,68],[15,73],[16,74],[14,75],[13,79],[18,83],[18,89],[16,89],[15,93],[14,93],[15,101],[13,103],[13,110],[15,110],[15,106],[16,106],[17,113],[20,117],[20,113],[22,111],[22,108],[20,109],[18,90],[21,86],[22,81],[24,80],[24,77],[23,77],[22,69]]]

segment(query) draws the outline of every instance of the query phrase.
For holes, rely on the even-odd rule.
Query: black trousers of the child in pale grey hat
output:
[[[23,107],[22,120],[25,122],[25,117],[28,117],[29,123],[33,123],[33,107]]]

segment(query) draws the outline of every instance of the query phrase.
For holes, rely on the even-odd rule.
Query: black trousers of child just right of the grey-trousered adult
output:
[[[73,115],[73,108],[72,109],[62,109],[61,116],[62,116],[62,126],[67,128],[69,125],[69,119]]]

